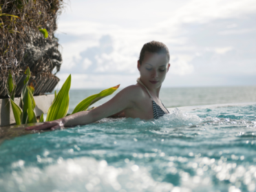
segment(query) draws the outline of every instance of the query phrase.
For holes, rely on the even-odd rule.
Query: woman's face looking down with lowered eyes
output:
[[[138,61],[138,70],[142,82],[147,87],[152,88],[158,88],[162,85],[169,67],[167,54],[146,52],[142,65]]]

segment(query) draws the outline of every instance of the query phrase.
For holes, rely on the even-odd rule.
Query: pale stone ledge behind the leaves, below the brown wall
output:
[[[54,100],[54,94],[34,96],[34,101],[36,102],[36,107],[34,109],[36,116],[41,116],[41,114],[46,114],[52,101]],[[19,105],[20,98],[14,98],[14,102]],[[12,112],[12,106],[10,105],[9,99],[0,99],[0,127],[11,125],[15,123],[15,119]]]

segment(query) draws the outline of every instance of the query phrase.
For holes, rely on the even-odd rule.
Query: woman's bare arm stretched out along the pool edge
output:
[[[26,128],[26,130],[42,130],[42,129],[61,129],[64,126],[76,126],[87,125],[92,122],[96,122],[102,118],[117,114],[124,109],[134,107],[134,86],[126,87],[122,89],[116,96],[111,98],[103,105],[96,107],[90,111],[80,111],[76,114],[66,116],[64,118],[53,120],[50,122],[44,122],[42,125],[35,125]]]

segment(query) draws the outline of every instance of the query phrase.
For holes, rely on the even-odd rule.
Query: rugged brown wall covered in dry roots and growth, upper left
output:
[[[54,32],[63,0],[0,0],[0,6],[0,98],[7,97],[8,72],[22,86],[27,66],[36,94],[52,92],[62,63]]]

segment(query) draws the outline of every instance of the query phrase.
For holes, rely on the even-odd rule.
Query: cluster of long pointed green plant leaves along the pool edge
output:
[[[12,105],[12,111],[14,114],[14,118],[17,125],[21,124],[27,124],[36,121],[36,114],[34,113],[34,107],[36,107],[36,103],[34,101],[34,86],[32,83],[28,85],[28,82],[30,80],[30,68],[27,67],[25,70],[25,81],[24,81],[24,87],[21,92],[21,107],[14,103],[14,95],[16,91],[16,85],[14,78],[12,77],[12,73],[9,71],[8,76],[8,96],[10,99],[10,103]],[[69,114],[67,114],[67,111],[69,109],[69,103],[70,103],[70,85],[71,85],[71,74],[67,77],[65,83],[61,87],[58,94],[56,94],[56,91],[54,92],[54,101],[52,102],[52,105],[47,111],[47,117],[45,121],[51,121],[56,120],[58,118],[63,118]],[[96,103],[101,98],[104,98],[105,96],[109,96],[113,94],[116,89],[118,89],[120,85],[117,85],[115,87],[110,87],[109,89],[105,89],[102,92],[98,94],[94,94],[92,96],[89,96],[82,100],[78,105],[76,105],[74,111],[72,114],[77,113],[79,111],[86,111],[89,106]],[[43,122],[43,114],[40,116],[39,122]]]

